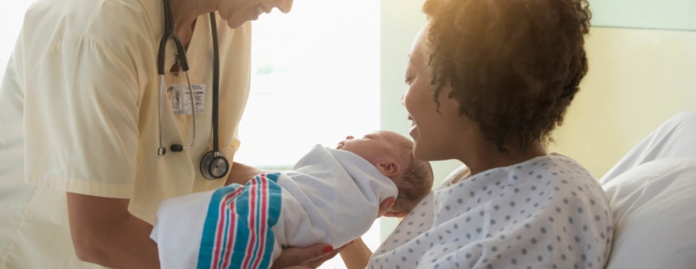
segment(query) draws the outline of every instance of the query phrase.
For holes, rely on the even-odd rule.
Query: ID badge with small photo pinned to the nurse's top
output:
[[[196,114],[206,111],[206,85],[192,84]],[[167,97],[172,105],[174,115],[191,115],[191,94],[188,84],[170,85],[167,87]]]

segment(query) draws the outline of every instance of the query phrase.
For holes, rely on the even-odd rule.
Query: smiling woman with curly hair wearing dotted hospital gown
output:
[[[581,165],[544,149],[587,72],[587,1],[423,9],[403,95],[414,153],[464,166],[375,254],[360,240],[343,249],[348,268],[603,268],[608,201]]]

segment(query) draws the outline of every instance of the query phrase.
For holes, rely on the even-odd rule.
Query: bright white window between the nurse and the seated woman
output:
[[[315,144],[380,127],[380,2],[295,1],[253,23],[252,81],[234,160],[289,169]],[[379,221],[363,236],[380,243]],[[336,256],[321,268],[345,268]]]

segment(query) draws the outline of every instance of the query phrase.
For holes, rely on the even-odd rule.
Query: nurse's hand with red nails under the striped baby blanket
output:
[[[333,258],[341,249],[333,249],[330,244],[315,244],[310,247],[289,247],[273,262],[272,269],[317,268],[321,263]]]

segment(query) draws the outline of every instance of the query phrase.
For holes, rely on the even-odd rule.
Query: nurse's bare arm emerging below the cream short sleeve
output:
[[[82,261],[109,268],[159,268],[152,225],[128,212],[126,199],[67,194],[70,232]]]

